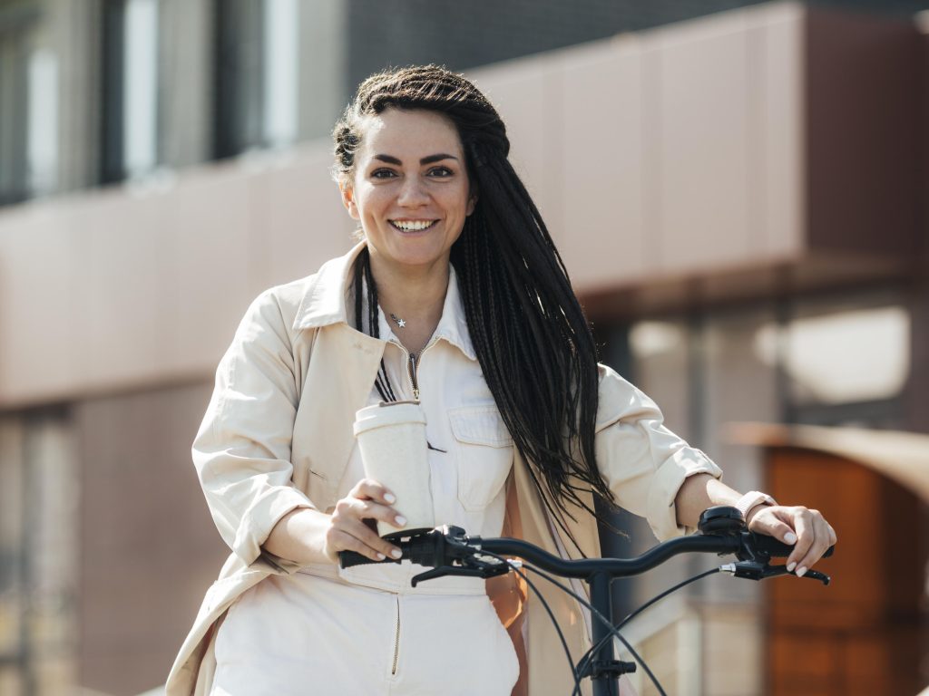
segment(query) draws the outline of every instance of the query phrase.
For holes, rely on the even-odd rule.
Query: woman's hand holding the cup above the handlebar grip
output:
[[[401,551],[377,535],[366,520],[386,522],[402,527],[406,519],[391,505],[397,498],[373,479],[361,479],[348,495],[335,503],[325,532],[324,550],[331,561],[338,561],[339,551],[355,551],[372,561],[387,556],[399,559]]]

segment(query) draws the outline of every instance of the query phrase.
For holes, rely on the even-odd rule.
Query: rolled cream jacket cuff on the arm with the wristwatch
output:
[[[648,490],[648,524],[659,541],[694,532],[694,527],[677,524],[674,499],[684,480],[695,473],[708,473],[717,479],[723,476],[723,470],[695,447],[677,450],[655,472]]]

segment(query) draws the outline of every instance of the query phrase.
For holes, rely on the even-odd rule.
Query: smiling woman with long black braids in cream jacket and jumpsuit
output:
[[[262,294],[217,370],[194,460],[232,555],[168,693],[569,692],[538,601],[515,617],[508,588],[494,612],[474,578],[413,590],[410,563],[338,569],[341,550],[399,553],[365,521],[402,526],[402,501],[364,478],[351,431],[380,401],[422,403],[436,522],[471,534],[505,525],[595,555],[601,496],[660,539],[738,504],[750,528],[795,544],[797,574],[835,543],[817,511],[721,483],[647,396],[597,365],[504,124],[473,84],[434,66],[374,75],[334,138],[363,240]],[[581,654],[583,612],[547,599]]]

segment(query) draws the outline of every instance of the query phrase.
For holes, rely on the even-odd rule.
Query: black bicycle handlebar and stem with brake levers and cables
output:
[[[523,569],[530,570],[580,601],[590,610],[593,619],[595,619],[592,622],[592,647],[575,664],[569,653],[567,642],[561,636],[561,630],[555,622],[554,614],[547,605],[544,605],[552,621],[555,622],[556,630],[559,637],[561,637],[562,645],[568,656],[570,669],[574,677],[572,696],[581,693],[581,681],[584,678],[590,678],[593,682],[594,696],[616,696],[619,693],[619,678],[623,674],[635,672],[635,663],[623,662],[614,658],[612,641],[614,636],[620,640],[626,650],[635,658],[635,661],[642,665],[659,693],[665,696],[661,684],[651,670],[648,669],[648,665],[639,657],[625,638],[622,638],[620,630],[624,625],[640,612],[645,611],[649,606],[667,597],[675,590],[710,574],[728,573],[735,577],[759,581],[768,577],[793,574],[783,565],[770,564],[772,558],[789,556],[793,547],[781,543],[772,536],[749,532],[739,510],[735,508],[717,506],[704,510],[700,515],[698,527],[699,534],[670,539],[632,559],[566,561],[553,556],[543,548],[520,539],[506,537],[483,539],[479,536],[466,535],[461,527],[448,525],[435,529],[405,530],[386,535],[385,538],[390,538],[403,552],[400,559],[396,561],[391,559],[371,561],[353,551],[343,551],[339,554],[339,557],[340,565],[343,568],[363,563],[399,563],[404,560],[432,568],[432,570],[414,576],[412,586],[445,575],[489,578],[513,571],[526,580],[544,605],[544,600],[538,589],[523,571]],[[824,554],[824,558],[831,556],[834,548],[834,546],[830,547]],[[687,580],[649,599],[635,612],[626,616],[619,624],[614,625],[608,619],[608,616],[612,614],[612,599],[609,587],[614,578],[642,574],[678,554],[692,552],[716,553],[720,556],[734,554],[738,561],[726,563],[718,568],[687,578]],[[507,559],[504,558],[504,555],[516,556],[518,559]],[[548,573],[563,578],[585,580],[590,586],[590,601],[579,597],[569,587],[557,582]],[[807,571],[803,577],[817,580],[823,585],[829,585],[831,582],[828,575],[818,571]]]

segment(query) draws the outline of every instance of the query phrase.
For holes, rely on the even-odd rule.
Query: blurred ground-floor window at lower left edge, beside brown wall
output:
[[[77,470],[61,411],[0,419],[0,692],[74,683]]]

